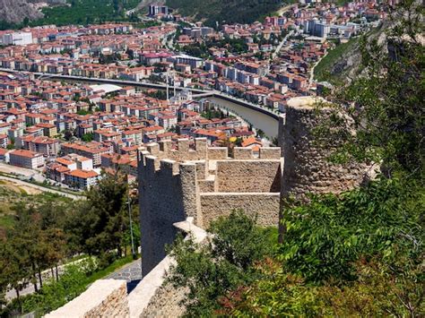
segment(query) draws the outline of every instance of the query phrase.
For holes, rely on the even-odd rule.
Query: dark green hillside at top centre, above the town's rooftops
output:
[[[206,25],[219,23],[250,23],[261,16],[273,13],[282,4],[282,0],[167,0],[167,5],[177,9],[178,13],[205,20]]]

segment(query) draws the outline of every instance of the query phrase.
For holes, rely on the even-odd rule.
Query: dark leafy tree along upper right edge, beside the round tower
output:
[[[386,34],[388,53],[377,39],[362,39],[364,75],[329,96],[333,116],[317,127],[317,142],[340,144],[334,160],[382,162],[386,176],[423,168],[423,13],[413,0],[400,3]]]

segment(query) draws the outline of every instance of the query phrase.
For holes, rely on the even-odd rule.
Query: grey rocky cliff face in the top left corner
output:
[[[36,20],[42,17],[43,13],[26,0],[0,0],[0,20],[19,23],[25,18]]]

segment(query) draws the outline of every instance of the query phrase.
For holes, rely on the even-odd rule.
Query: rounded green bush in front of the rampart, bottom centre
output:
[[[212,222],[205,245],[179,236],[170,249],[177,265],[169,282],[188,288],[186,314],[202,316],[219,308],[217,299],[239,285],[256,279],[254,264],[270,254],[270,233],[256,227],[256,219],[242,211]]]

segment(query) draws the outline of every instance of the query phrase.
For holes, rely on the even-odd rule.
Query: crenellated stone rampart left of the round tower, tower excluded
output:
[[[206,139],[152,143],[139,153],[139,191],[143,275],[165,257],[165,245],[176,236],[173,223],[194,218],[208,228],[213,219],[235,209],[258,215],[258,222],[278,221],[281,150],[207,147]]]

